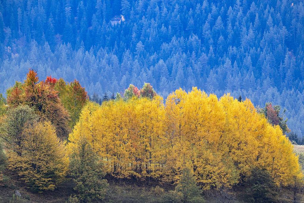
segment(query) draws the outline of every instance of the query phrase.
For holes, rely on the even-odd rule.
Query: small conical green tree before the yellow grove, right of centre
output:
[[[181,199],[181,202],[205,202],[201,196],[201,190],[196,184],[193,172],[189,167],[181,171],[181,177],[178,181],[175,191]]]

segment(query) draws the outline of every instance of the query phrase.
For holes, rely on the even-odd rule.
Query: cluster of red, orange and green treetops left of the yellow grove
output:
[[[37,73],[29,70],[24,83],[16,82],[8,90],[7,103],[10,107],[23,104],[33,108],[41,119],[51,121],[57,136],[66,139],[87,98],[85,89],[76,80],[67,84],[63,79],[48,76],[39,81]]]

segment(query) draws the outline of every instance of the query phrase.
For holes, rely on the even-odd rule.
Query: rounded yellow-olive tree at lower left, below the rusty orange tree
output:
[[[50,121],[31,122],[22,131],[21,156],[9,151],[9,169],[16,170],[31,190],[54,190],[66,175],[68,159],[63,142]]]

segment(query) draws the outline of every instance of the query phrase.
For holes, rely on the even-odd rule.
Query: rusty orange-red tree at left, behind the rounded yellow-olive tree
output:
[[[9,90],[7,101],[11,107],[24,104],[33,108],[40,118],[50,120],[56,128],[57,135],[65,139],[70,131],[70,118],[58,97],[58,92],[54,89],[55,81],[48,77],[46,81],[39,82],[37,73],[29,70],[24,84],[16,83],[16,87]]]

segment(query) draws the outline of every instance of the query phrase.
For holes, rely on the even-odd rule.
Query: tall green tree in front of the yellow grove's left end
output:
[[[81,202],[102,200],[108,188],[107,180],[102,179],[102,164],[92,151],[86,138],[81,138],[70,157],[70,171]]]

